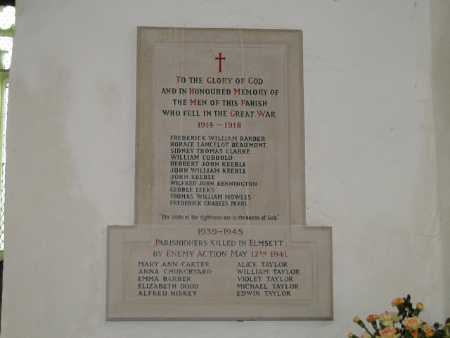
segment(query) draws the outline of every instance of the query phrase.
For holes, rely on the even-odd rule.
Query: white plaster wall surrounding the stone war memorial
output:
[[[105,322],[105,230],[133,223],[139,25],[304,30],[307,221],[333,227],[334,321]],[[347,337],[406,294],[442,321],[431,36],[425,0],[18,1],[2,337]]]

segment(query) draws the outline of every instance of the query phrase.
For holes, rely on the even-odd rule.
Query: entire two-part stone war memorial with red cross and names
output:
[[[330,320],[306,227],[302,35],[140,27],[135,225],[108,227],[108,320]]]

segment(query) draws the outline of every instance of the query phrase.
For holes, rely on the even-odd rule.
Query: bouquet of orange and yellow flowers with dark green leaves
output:
[[[380,315],[369,315],[367,322],[371,323],[375,332],[371,333],[359,317],[353,318],[365,331],[361,337],[349,333],[349,338],[450,338],[450,318],[445,325],[435,323],[430,325],[420,320],[419,313],[423,310],[423,304],[417,303],[413,307],[411,296],[396,298],[392,306],[397,307],[398,312],[385,312]]]

